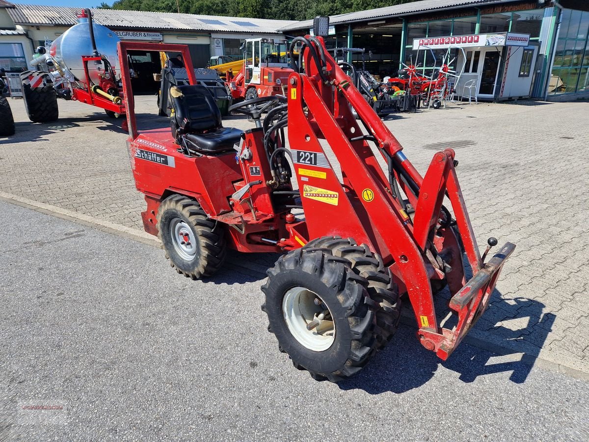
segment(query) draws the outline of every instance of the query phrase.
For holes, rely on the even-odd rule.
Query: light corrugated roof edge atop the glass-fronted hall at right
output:
[[[419,12],[434,11],[436,9],[455,9],[466,6],[481,6],[485,4],[513,3],[522,0],[421,0],[402,5],[385,6],[384,8],[368,9],[368,11],[349,12],[348,14],[332,15],[329,24],[336,25],[355,21],[367,21],[374,18],[398,17],[401,15],[418,14]],[[295,29],[312,28],[313,20],[303,20],[280,28],[280,31],[294,31]]]

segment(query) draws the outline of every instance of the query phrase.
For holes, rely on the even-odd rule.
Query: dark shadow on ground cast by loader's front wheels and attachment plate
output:
[[[444,300],[443,297],[441,299]],[[447,301],[444,304],[445,302]],[[446,361],[442,361],[434,352],[426,350],[419,343],[415,335],[416,322],[409,306],[403,312],[402,324],[388,347],[375,355],[357,376],[340,382],[339,387],[342,390],[358,388],[369,394],[386,391],[401,393],[430,381],[439,367],[455,371],[459,374],[459,381],[464,383],[474,382],[479,376],[502,372],[508,374],[509,380],[515,384],[524,383],[547,338],[555,315],[543,313],[544,304],[534,299],[501,299],[497,290],[494,291],[491,302],[491,308],[506,311],[506,319],[522,319],[525,322],[528,318],[527,324],[520,329],[511,329],[499,322],[499,325],[493,324],[487,329],[484,325],[481,326],[481,322],[484,321],[485,314],[489,314],[488,310],[482,315],[481,322],[474,326],[475,330],[488,334],[488,339],[466,335],[454,353]],[[438,304],[436,302],[436,308]],[[535,324],[542,326],[534,328],[534,345],[525,345],[525,353],[522,354],[524,349],[514,348],[521,341],[532,338],[530,333]],[[444,324],[446,328],[454,325],[455,320]],[[495,358],[498,362],[494,362]]]

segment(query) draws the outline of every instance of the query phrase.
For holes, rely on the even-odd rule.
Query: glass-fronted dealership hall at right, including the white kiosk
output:
[[[479,99],[589,97],[589,1],[422,0],[330,17],[329,47],[364,48],[348,54],[356,67],[394,75],[399,62],[431,75],[448,51],[462,68],[462,84]],[[284,34],[310,32],[312,20],[286,25]],[[451,58],[452,58],[451,57]]]

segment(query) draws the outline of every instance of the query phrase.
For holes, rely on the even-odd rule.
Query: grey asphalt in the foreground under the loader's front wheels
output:
[[[131,239],[6,202],[0,223],[1,441],[589,440],[588,382],[467,344],[442,362],[408,326],[312,380],[266,331],[259,259],[191,281]]]

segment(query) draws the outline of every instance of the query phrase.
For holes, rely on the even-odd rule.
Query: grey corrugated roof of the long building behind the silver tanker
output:
[[[77,23],[81,8],[59,6],[15,5],[6,9],[18,25],[60,25]],[[107,28],[177,29],[180,31],[241,32],[247,34],[276,34],[277,29],[295,23],[289,20],[268,20],[214,15],[176,14],[170,12],[120,11],[91,9],[94,21]]]

